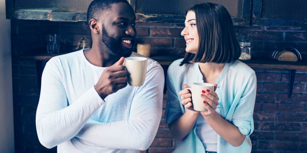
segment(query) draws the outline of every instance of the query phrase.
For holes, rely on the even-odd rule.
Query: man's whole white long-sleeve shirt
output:
[[[83,50],[47,62],[36,113],[43,146],[58,146],[58,152],[139,152],[150,146],[162,114],[161,66],[148,59],[143,86],[128,85],[105,101],[94,89],[104,69],[89,63]]]

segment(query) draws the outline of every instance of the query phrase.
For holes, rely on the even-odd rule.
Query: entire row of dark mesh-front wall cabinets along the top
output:
[[[7,19],[86,21],[92,0],[6,0]],[[218,3],[231,14],[234,25],[307,27],[304,0],[128,0],[137,21],[184,23],[186,10],[203,2]]]

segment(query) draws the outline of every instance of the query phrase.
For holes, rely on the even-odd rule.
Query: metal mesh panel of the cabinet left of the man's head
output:
[[[93,0],[14,0],[15,11],[86,13]]]

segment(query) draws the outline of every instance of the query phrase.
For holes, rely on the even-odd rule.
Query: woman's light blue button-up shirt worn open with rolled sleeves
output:
[[[184,89],[183,85],[191,86],[193,82],[203,82],[198,63],[179,66],[181,61],[182,59],[174,61],[167,71],[168,101],[165,110],[165,121],[168,124],[181,117],[186,111],[178,94],[180,90]],[[218,85],[216,94],[220,98],[221,117],[234,124],[242,134],[246,135],[243,144],[239,147],[233,147],[221,136],[217,135],[217,152],[251,152],[252,145],[249,135],[254,130],[253,111],[257,86],[255,71],[236,60],[225,64],[222,73],[216,78],[215,82]],[[195,132],[195,125],[183,140],[176,141],[173,152],[205,152],[205,148]]]

